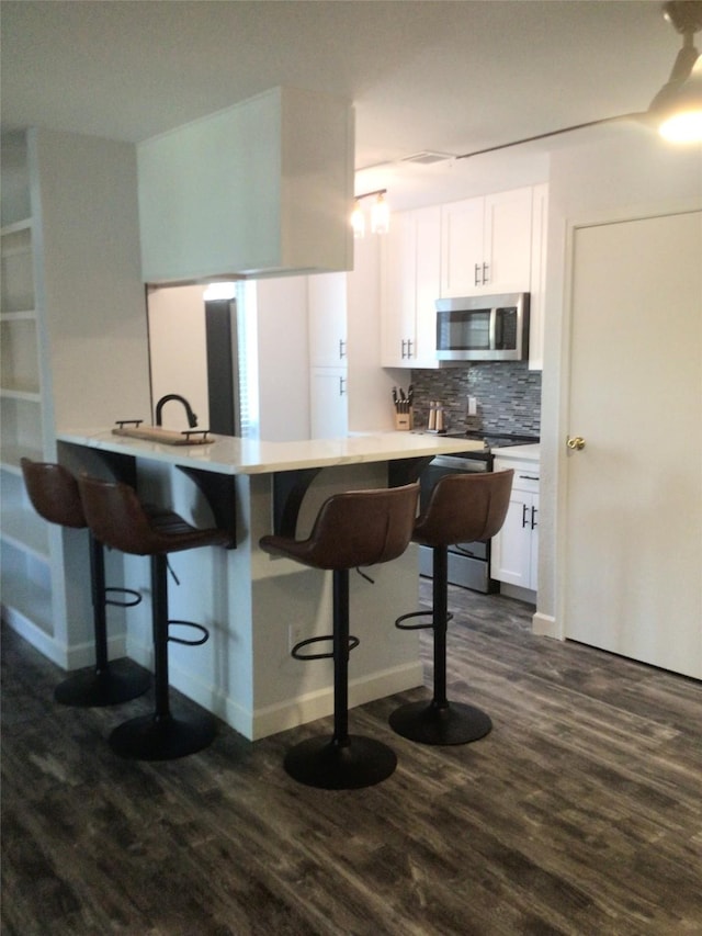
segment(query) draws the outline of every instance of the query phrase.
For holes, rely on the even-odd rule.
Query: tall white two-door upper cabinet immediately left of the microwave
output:
[[[435,369],[441,208],[394,215],[383,252],[382,364]]]

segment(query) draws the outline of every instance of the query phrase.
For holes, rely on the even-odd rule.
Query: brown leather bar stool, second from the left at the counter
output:
[[[217,528],[196,529],[172,511],[150,514],[127,484],[112,484],[81,475],[78,487],[93,535],[112,549],[151,561],[151,619],[154,625],[152,714],[118,725],[110,735],[112,749],[136,760],[171,760],[206,747],[216,734],[215,720],[206,713],[171,713],[168,676],[168,642],[197,646],[208,638],[206,628],[168,619],[168,554],[201,546],[230,546],[230,534]],[[174,638],[169,625],[194,628],[196,640]]]

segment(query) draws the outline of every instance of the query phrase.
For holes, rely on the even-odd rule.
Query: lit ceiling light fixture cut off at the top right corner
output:
[[[702,58],[693,36],[702,29],[702,0],[664,3],[664,15],[682,35],[670,77],[648,108],[658,133],[671,143],[702,142]]]

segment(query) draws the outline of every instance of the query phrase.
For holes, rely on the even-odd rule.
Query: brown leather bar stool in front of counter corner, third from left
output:
[[[333,735],[312,737],[291,748],[285,770],[295,780],[324,790],[353,790],[385,780],[397,757],[386,744],[349,734],[349,570],[389,562],[409,545],[419,485],[336,494],[322,504],[306,540],[268,535],[260,546],[313,568],[333,574],[332,634],[310,638],[293,647],[297,659],[333,659]],[[319,641],[331,641],[331,653],[301,653]]]

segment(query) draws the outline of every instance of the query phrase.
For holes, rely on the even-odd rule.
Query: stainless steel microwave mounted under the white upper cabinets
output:
[[[437,300],[440,361],[529,358],[529,293]]]

